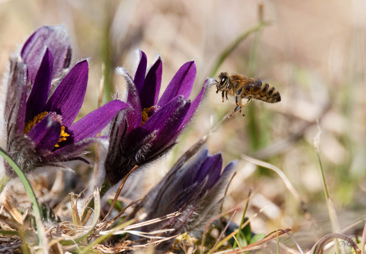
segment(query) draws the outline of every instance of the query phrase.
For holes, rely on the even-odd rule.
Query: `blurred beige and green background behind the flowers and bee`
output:
[[[259,78],[281,94],[276,104],[252,101],[240,114],[219,121],[234,109],[235,99],[221,103],[211,88],[190,128],[171,153],[139,178],[143,196],[176,159],[199,138],[211,134],[211,153],[222,152],[224,163],[238,160],[224,210],[246,199],[253,187],[247,216],[266,207],[251,222],[265,233],[294,227],[297,240],[313,245],[331,231],[313,138],[321,129],[320,158],[341,228],[360,234],[366,204],[366,2],[351,1],[0,1],[0,71],[37,27],[65,24],[75,63],[90,58],[87,94],[81,114],[97,107],[99,83],[105,75],[104,103],[123,80],[114,68],[134,73],[135,49],[148,64],[163,58],[161,91],[187,61],[195,60],[197,77],[191,98],[201,89],[220,54],[262,19],[270,23],[241,41],[223,61],[221,71]],[[102,63],[105,71],[102,73]],[[1,88],[3,89],[3,88]],[[4,91],[1,91],[4,92]],[[80,115],[82,116],[82,115]],[[319,128],[317,127],[319,120]],[[298,200],[273,171],[258,167],[242,155],[279,167],[306,202],[313,225]],[[75,174],[87,183],[91,168]],[[240,222],[242,210],[234,218]]]

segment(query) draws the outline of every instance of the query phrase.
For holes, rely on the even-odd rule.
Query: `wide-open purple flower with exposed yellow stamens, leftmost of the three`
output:
[[[57,162],[83,160],[86,145],[122,109],[115,100],[74,122],[85,96],[88,63],[70,71],[70,39],[63,26],[43,26],[11,57],[5,124],[10,156],[23,171]],[[5,163],[6,173],[14,172]]]

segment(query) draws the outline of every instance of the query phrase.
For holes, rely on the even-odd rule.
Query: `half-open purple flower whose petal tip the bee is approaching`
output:
[[[206,80],[197,97],[191,102],[196,67],[194,61],[183,64],[167,89],[158,99],[163,64],[160,57],[146,76],[146,55],[140,59],[134,78],[124,68],[117,69],[127,82],[126,102],[133,110],[122,112],[112,122],[105,172],[112,184],[119,182],[135,166],[154,160],[176,143],[180,132],[190,121],[207,87]]]

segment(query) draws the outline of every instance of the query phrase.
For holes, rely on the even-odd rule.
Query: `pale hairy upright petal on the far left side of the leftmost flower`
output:
[[[23,134],[27,98],[27,67],[16,57],[10,59],[10,75],[5,103],[7,140]]]

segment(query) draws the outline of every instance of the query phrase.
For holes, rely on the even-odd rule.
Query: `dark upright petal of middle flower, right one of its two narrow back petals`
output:
[[[139,92],[142,109],[156,105],[159,98],[162,74],[163,63],[161,62],[161,58],[158,57],[147,72],[145,84],[143,84],[142,91]]]

